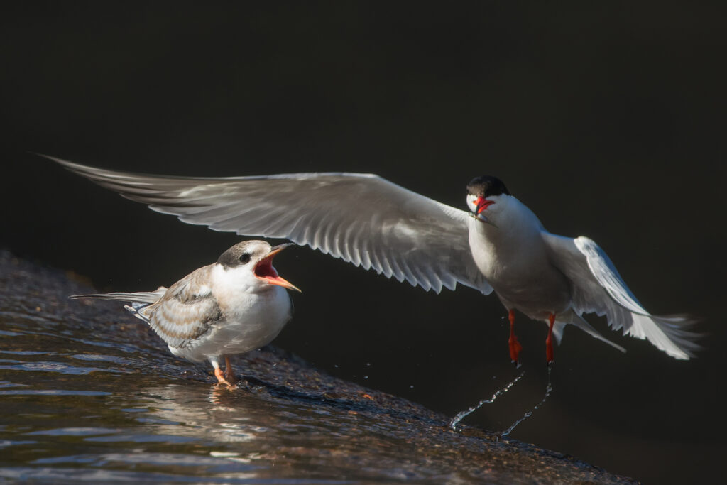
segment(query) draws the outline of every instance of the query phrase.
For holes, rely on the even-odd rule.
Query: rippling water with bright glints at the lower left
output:
[[[121,324],[92,326],[1,309],[1,477],[345,483],[449,468],[420,461],[406,425],[335,393],[198,382]]]

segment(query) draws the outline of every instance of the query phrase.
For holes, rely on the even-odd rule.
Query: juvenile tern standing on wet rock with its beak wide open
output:
[[[273,257],[287,246],[292,244],[270,247],[265,241],[243,241],[169,289],[71,298],[131,302],[124,308],[148,323],[175,356],[208,360],[217,382],[231,386],[236,377],[229,356],[267,345],[292,316],[286,289],[300,289],[273,268]]]

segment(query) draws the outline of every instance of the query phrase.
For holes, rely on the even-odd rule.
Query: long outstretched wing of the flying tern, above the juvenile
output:
[[[185,223],[308,244],[426,290],[460,283],[492,292],[470,252],[467,212],[377,175],[166,177],[47,158]]]

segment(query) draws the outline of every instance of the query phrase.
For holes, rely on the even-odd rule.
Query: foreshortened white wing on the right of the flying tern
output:
[[[686,316],[654,316],[636,300],[598,244],[586,237],[570,239],[543,233],[553,263],[571,280],[573,310],[606,315],[614,330],[648,339],[672,357],[688,359],[699,350],[698,334],[686,330],[694,323]]]

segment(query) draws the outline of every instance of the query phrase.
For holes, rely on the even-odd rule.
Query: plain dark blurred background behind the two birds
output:
[[[720,2],[715,2],[715,5]],[[0,12],[0,245],[100,289],[171,284],[240,238],[121,199],[28,151],[167,175],[374,172],[465,208],[497,175],[546,228],[606,249],[646,308],[702,317],[675,361],[590,318],[514,438],[645,483],[720,477],[727,170],[722,9],[694,2],[22,2]],[[471,289],[388,281],[308,248],[276,340],[332,374],[450,415],[515,377],[505,310]],[[526,375],[465,422],[504,429]],[[723,476],[723,474],[722,474]]]

